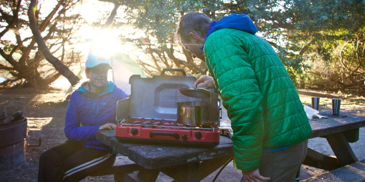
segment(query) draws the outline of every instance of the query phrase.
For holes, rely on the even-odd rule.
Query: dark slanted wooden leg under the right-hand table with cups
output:
[[[348,144],[343,132],[329,134],[326,138],[333,150],[333,153],[336,155],[342,166],[359,161]]]

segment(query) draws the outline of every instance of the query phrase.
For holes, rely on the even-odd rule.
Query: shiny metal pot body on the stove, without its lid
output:
[[[177,122],[186,125],[201,125],[209,122],[209,106],[207,102],[178,102]]]

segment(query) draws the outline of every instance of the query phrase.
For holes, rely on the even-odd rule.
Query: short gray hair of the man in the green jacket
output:
[[[212,22],[208,16],[199,12],[190,12],[180,18],[179,27],[176,32],[183,40],[189,41],[189,33],[199,33],[205,37],[209,25]]]

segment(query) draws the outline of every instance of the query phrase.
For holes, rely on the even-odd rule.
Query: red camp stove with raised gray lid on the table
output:
[[[176,71],[180,75],[164,75],[165,71]],[[166,143],[192,147],[215,146],[219,144],[219,94],[211,89],[208,98],[193,98],[180,92],[181,88],[194,87],[197,79],[186,76],[183,69],[164,69],[161,75],[142,78],[129,77],[131,93],[129,98],[118,100],[116,108],[117,125],[115,137],[127,142],[146,144]],[[177,104],[179,102],[209,103],[208,110],[197,111],[196,116],[208,117],[201,125],[185,125],[193,122],[179,122]],[[198,114],[199,112],[199,114]],[[186,118],[193,117],[186,116]],[[153,119],[152,119],[153,118]],[[195,123],[195,122],[194,122]]]

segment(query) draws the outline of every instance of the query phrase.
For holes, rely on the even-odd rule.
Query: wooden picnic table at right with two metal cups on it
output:
[[[312,128],[310,138],[326,138],[335,156],[324,155],[308,148],[303,164],[333,170],[359,161],[348,143],[359,140],[359,128],[365,126],[365,117],[346,113],[339,116],[333,116],[330,113],[319,113],[319,115],[329,118],[309,121]]]

